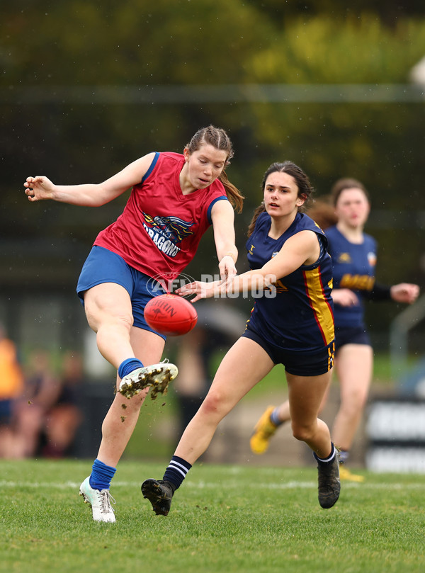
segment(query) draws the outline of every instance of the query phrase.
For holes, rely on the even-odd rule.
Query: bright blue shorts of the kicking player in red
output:
[[[81,269],[77,284],[77,295],[82,305],[84,292],[102,283],[116,283],[124,287],[131,299],[133,325],[154,332],[166,340],[164,334],[148,326],[144,314],[147,302],[155,296],[163,295],[166,290],[156,280],[128,265],[120,255],[95,245]]]

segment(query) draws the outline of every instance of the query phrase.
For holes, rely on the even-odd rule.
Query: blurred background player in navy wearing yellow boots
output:
[[[387,287],[375,282],[377,245],[373,237],[363,232],[370,202],[360,181],[353,178],[336,181],[328,205],[330,212],[326,212],[326,205],[320,205],[320,210],[313,208],[312,217],[316,219],[314,212],[317,211],[322,220],[331,223],[325,232],[334,269],[335,370],[341,388],[341,404],[331,436],[339,448],[341,480],[362,482],[364,477],[348,470],[346,462],[363,415],[373,372],[373,349],[365,327],[363,300],[411,304],[419,295],[419,286],[400,283]],[[320,224],[325,228],[326,223]],[[269,406],[251,436],[251,450],[264,453],[278,426],[289,419],[289,402],[278,407]]]

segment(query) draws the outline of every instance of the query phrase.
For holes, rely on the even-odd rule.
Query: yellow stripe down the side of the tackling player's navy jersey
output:
[[[328,345],[335,338],[334,315],[324,294],[320,267],[312,268],[303,273],[307,297],[314,311],[317,325],[322,332],[324,344]]]

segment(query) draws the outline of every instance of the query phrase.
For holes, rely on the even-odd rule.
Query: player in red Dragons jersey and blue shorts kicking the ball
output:
[[[91,207],[132,188],[118,220],[98,234],[77,285],[98,349],[118,370],[120,390],[103,421],[91,475],[80,487],[95,521],[115,521],[111,479],[149,386],[164,391],[177,375],[174,364],[159,363],[165,337],[146,324],[146,303],[169,290],[210,225],[222,280],[236,274],[234,208],[242,209],[243,196],[225,173],[232,156],[227,133],[210,125],[196,132],[183,154],[149,153],[103,183],[55,185],[45,176],[24,183],[30,201]]]

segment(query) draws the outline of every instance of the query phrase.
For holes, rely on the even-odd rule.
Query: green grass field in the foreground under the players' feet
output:
[[[165,461],[164,461],[165,463]],[[79,497],[91,461],[1,463],[1,572],[424,572],[425,480],[364,472],[333,509],[305,469],[198,464],[155,516],[140,483],[164,463],[120,463],[117,523]]]

